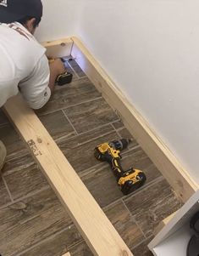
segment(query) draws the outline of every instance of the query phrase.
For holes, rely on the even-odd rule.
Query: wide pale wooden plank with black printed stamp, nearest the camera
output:
[[[28,108],[19,95],[8,100],[4,110],[14,122],[92,253],[97,256],[132,255],[34,111]]]

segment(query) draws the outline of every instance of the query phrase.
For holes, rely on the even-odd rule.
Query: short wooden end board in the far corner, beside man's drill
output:
[[[47,48],[47,57],[56,59],[70,55],[73,41],[70,38],[64,38],[41,44],[43,47]]]

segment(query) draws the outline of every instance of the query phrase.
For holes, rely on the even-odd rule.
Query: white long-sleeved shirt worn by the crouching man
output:
[[[51,96],[46,49],[24,26],[0,24],[0,107],[20,93],[39,109]]]

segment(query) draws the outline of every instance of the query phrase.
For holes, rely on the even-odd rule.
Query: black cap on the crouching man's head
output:
[[[11,23],[26,16],[41,19],[41,0],[0,0],[0,22]]]

